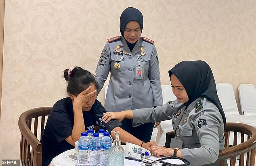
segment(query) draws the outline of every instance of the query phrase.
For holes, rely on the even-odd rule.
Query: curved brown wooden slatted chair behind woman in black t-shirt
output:
[[[19,117],[20,156],[23,166],[42,166],[42,144],[37,137],[38,135],[40,139],[42,137],[46,116],[49,115],[50,110],[52,107],[34,108],[23,112]]]

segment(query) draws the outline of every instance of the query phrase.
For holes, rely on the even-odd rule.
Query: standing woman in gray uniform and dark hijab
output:
[[[108,39],[103,48],[95,73],[98,93],[111,73],[104,105],[108,111],[163,105],[157,50],[154,41],[141,37],[142,29],[142,13],[136,8],[126,8],[120,17],[122,36]],[[149,122],[133,127],[130,119],[124,119],[121,127],[148,142],[153,125]]]

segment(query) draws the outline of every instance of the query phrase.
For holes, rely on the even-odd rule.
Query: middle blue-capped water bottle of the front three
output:
[[[101,165],[101,139],[99,138],[99,133],[93,133],[93,137],[90,140],[89,149],[90,149],[89,165],[100,166]]]

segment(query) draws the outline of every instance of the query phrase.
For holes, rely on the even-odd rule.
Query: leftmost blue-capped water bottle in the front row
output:
[[[77,166],[88,166],[88,149],[89,139],[87,133],[81,133],[81,137],[78,140],[78,156],[76,160]]]

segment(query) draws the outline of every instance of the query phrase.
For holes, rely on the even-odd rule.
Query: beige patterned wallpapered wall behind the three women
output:
[[[143,13],[142,35],[155,41],[162,85],[176,63],[199,59],[236,95],[240,83],[256,85],[255,0],[8,0],[0,160],[19,159],[22,112],[67,96],[65,68],[94,73],[107,39],[120,35],[120,14],[128,6]]]

